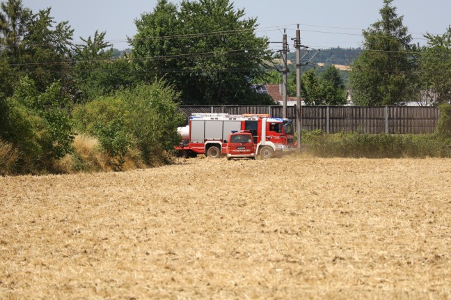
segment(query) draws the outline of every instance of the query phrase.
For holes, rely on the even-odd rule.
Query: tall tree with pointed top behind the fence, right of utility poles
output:
[[[354,104],[395,105],[411,99],[412,38],[392,2],[383,0],[381,19],[363,31],[365,50],[349,75]]]

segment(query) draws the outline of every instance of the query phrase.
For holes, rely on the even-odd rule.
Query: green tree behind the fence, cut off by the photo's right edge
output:
[[[427,45],[419,55],[419,74],[423,90],[432,104],[451,104],[451,26],[443,35],[428,33]]]

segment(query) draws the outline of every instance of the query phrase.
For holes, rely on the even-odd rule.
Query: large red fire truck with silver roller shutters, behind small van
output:
[[[274,152],[288,152],[294,146],[293,124],[289,119],[269,115],[193,113],[189,124],[178,128],[182,143],[175,148],[185,155],[205,154],[219,158],[227,153],[229,134],[239,130],[251,132],[255,153],[262,158],[273,157]]]

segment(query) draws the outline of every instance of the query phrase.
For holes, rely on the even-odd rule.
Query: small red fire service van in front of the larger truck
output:
[[[229,135],[227,143],[227,160],[248,157],[255,159],[255,146],[251,132],[240,130]]]

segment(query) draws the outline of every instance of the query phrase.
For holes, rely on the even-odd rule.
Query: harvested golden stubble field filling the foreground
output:
[[[451,160],[0,178],[1,299],[449,299]]]

